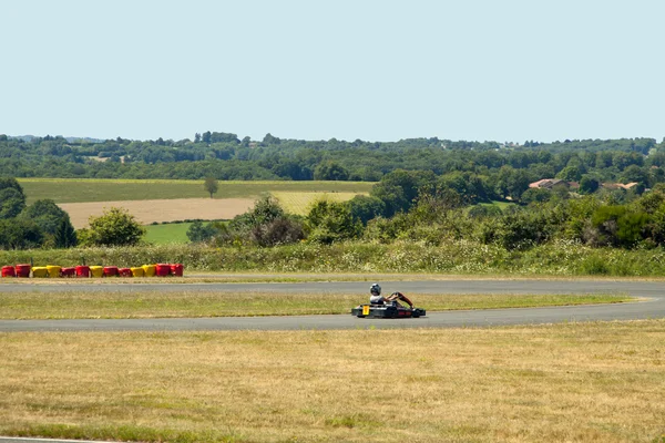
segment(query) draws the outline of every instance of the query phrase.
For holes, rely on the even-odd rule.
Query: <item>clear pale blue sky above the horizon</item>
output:
[[[661,0],[0,2],[0,134],[665,136]]]

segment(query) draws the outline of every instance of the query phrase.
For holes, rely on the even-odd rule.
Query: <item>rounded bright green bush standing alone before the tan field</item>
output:
[[[88,243],[94,246],[133,246],[141,241],[145,228],[126,209],[112,207],[99,217],[90,217]]]

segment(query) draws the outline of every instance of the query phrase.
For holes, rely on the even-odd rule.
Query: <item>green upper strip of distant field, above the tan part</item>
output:
[[[55,203],[151,200],[209,197],[203,181],[19,178],[28,204],[50,198]],[[219,182],[215,198],[250,198],[273,192],[369,193],[368,182]]]

